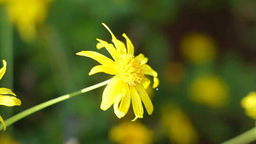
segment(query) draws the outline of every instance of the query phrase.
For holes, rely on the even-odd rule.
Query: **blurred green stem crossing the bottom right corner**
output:
[[[221,144],[249,144],[256,140],[256,127]]]

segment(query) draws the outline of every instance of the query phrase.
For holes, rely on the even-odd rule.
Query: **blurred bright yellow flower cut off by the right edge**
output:
[[[256,119],[256,92],[250,92],[241,100],[241,105],[249,117]]]

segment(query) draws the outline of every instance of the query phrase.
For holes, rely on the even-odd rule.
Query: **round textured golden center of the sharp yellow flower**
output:
[[[115,69],[119,79],[130,86],[140,83],[144,77],[139,63],[134,59],[132,54],[123,54],[115,61]]]

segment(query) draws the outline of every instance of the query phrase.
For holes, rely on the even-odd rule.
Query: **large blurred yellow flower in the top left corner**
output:
[[[29,42],[37,35],[36,26],[45,21],[51,0],[3,0],[12,23],[21,38]],[[1,1],[0,1],[1,3]]]

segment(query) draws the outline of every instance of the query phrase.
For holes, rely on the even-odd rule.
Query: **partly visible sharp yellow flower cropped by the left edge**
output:
[[[5,71],[6,71],[6,61],[3,60],[3,67],[0,69],[0,80],[2,79]],[[12,96],[9,96],[12,95]],[[13,93],[10,89],[0,88],[0,105],[12,107],[12,106],[20,106],[21,101],[16,97],[16,94]],[[0,116],[0,122],[4,126],[4,130],[6,130],[6,125],[3,118]]]

